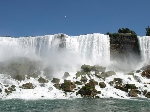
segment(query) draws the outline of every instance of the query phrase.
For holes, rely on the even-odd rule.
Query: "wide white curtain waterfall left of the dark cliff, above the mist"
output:
[[[0,37],[0,61],[13,57],[49,59],[57,57],[56,54],[65,54],[64,57],[70,57],[72,60],[80,57],[82,61],[106,63],[110,59],[109,36],[94,33],[80,36],[55,34],[19,38]]]

